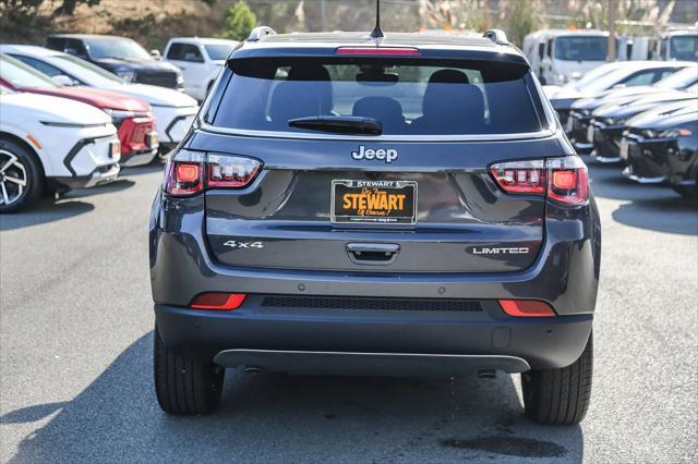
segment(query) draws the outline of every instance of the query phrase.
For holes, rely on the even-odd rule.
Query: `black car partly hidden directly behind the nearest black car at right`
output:
[[[591,113],[590,127],[593,131],[592,159],[601,162],[622,161],[619,147],[626,121],[654,107],[673,101],[693,100],[696,105],[698,87],[687,90],[675,90],[645,95],[641,98],[628,97],[627,100],[614,100],[611,103],[597,108]]]

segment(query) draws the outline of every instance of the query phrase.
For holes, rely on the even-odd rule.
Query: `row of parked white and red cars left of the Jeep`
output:
[[[48,44],[69,53],[0,45],[0,212],[20,210],[41,193],[111,182],[121,167],[152,162],[182,141],[198,111],[198,102],[178,88],[181,78],[167,88],[143,84],[161,69],[140,65],[128,75],[112,66],[118,60],[109,53],[135,66],[129,53],[140,53],[137,44],[58,38]],[[181,77],[172,64],[166,68]],[[152,82],[165,82],[158,80]]]

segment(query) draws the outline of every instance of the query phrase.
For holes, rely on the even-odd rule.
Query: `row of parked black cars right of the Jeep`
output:
[[[698,64],[614,62],[544,89],[577,151],[698,196]]]

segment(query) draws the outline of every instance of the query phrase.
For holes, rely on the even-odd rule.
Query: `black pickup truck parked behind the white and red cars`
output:
[[[128,82],[184,91],[182,72],[177,66],[159,61],[127,37],[57,34],[46,39],[45,47],[80,57]]]

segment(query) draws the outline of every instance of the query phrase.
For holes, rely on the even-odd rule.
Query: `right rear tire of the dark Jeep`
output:
[[[559,369],[521,374],[524,407],[533,422],[546,425],[575,425],[587,415],[593,370],[592,334],[579,358]]]

